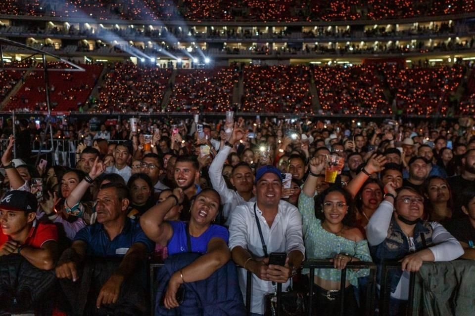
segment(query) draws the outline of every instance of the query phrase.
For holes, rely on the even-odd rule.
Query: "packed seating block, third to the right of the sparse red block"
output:
[[[246,66],[242,112],[311,113],[310,72],[306,66]]]

